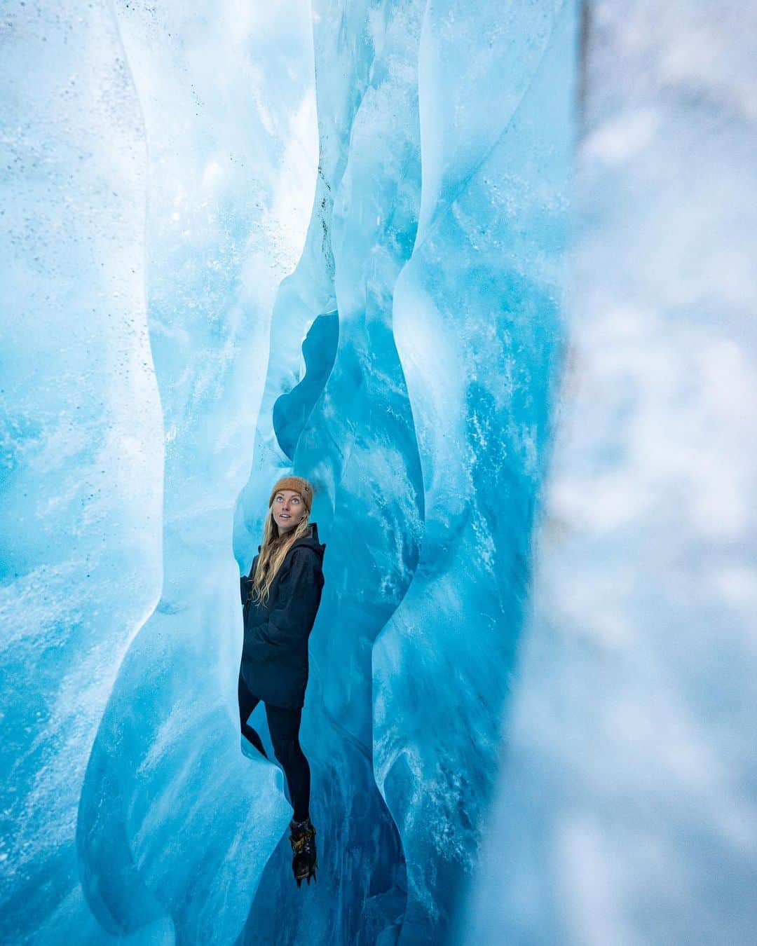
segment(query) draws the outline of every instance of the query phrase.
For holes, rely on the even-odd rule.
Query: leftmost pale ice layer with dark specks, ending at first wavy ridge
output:
[[[9,3],[0,32],[0,938],[54,942],[89,917],[84,773],[160,597],[164,440],[145,129],[113,15]]]

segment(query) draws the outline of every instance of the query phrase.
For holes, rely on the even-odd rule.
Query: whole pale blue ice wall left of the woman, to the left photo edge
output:
[[[229,942],[290,815],[239,753],[230,537],[312,204],[309,10],[3,18],[3,938]]]

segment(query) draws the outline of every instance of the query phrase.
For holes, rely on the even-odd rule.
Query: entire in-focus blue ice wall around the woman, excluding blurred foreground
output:
[[[6,258],[45,332],[4,376],[3,932],[448,941],[549,455],[575,5],[117,0],[5,28]],[[236,707],[238,571],[290,470],[328,546],[307,889]]]

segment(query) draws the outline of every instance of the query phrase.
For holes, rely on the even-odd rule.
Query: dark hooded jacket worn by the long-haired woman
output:
[[[239,579],[244,616],[240,673],[250,692],[271,706],[297,709],[305,703],[308,638],[321,604],[325,550],[318,525],[310,523],[310,533],[287,552],[266,604],[250,600],[260,546],[250,575]]]

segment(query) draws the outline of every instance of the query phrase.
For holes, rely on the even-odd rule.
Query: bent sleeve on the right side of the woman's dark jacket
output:
[[[282,577],[278,603],[245,642],[245,649],[256,660],[274,660],[302,652],[315,622],[324,577],[314,552],[294,552],[289,574]]]

